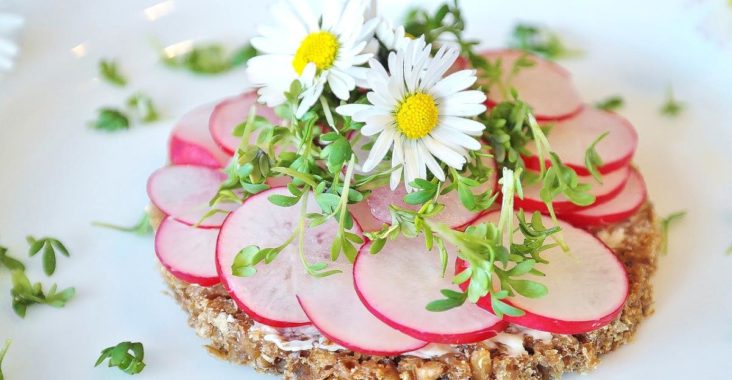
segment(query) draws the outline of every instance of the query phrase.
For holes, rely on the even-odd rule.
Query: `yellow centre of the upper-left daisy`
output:
[[[333,66],[339,48],[338,38],[333,33],[324,31],[310,33],[297,48],[292,67],[298,75],[302,75],[308,63],[314,63],[318,71],[327,70]]]

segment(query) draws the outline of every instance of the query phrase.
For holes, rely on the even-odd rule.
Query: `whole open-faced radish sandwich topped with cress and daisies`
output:
[[[553,378],[652,312],[633,126],[457,5],[281,2],[258,90],[183,116],[148,193],[209,350],[291,379]]]

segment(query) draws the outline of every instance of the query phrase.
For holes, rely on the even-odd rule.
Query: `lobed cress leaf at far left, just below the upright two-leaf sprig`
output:
[[[13,287],[10,289],[10,294],[13,299],[13,310],[21,318],[25,317],[28,306],[43,304],[61,308],[76,294],[73,287],[57,292],[56,284],[51,285],[48,294],[45,294],[41,283],[31,284],[25,272],[20,270],[13,271],[11,280]]]

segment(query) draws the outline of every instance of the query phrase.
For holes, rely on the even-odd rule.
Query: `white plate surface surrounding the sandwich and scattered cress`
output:
[[[502,45],[510,27],[525,20],[552,26],[584,50],[582,58],[563,64],[588,101],[625,98],[622,113],[641,136],[636,162],[660,214],[689,210],[671,233],[671,252],[659,260],[656,314],[635,342],[605,358],[592,379],[722,378],[732,372],[732,257],[724,256],[732,244],[732,59],[725,50],[732,36],[714,34],[729,31],[724,28],[732,15],[724,12],[732,9],[725,2],[463,2],[470,34],[486,46]],[[397,15],[407,3],[384,7]],[[0,243],[32,263],[32,280],[75,286],[77,296],[61,310],[31,307],[21,320],[10,308],[8,273],[0,269],[0,340],[14,340],[6,378],[127,379],[116,369],[93,368],[102,348],[122,340],[145,344],[148,365],[139,379],[268,378],[206,353],[206,342],[165,290],[151,239],[90,225],[134,222],[147,204],[148,174],[165,162],[174,120],[246,87],[241,70],[195,77],[162,67],[151,39],[164,45],[241,42],[266,17],[265,5],[15,5],[26,27],[16,71],[0,82]],[[100,57],[118,59],[130,79],[127,88],[100,82]],[[658,114],[670,84],[687,104],[678,119]],[[97,107],[120,104],[138,89],[159,103],[165,121],[116,134],[87,128]],[[25,257],[26,234],[56,236],[71,249],[53,278],[39,271],[39,258]]]

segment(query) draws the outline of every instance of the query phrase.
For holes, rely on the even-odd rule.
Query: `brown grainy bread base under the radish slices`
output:
[[[639,323],[653,312],[650,277],[656,268],[659,229],[653,207],[644,205],[629,220],[593,231],[624,263],[630,296],[620,317],[587,334],[524,337],[526,353],[510,355],[500,344],[455,346],[457,353],[433,359],[376,357],[320,348],[287,352],[265,341],[260,329],[239,311],[221,286],[204,288],[163,277],[190,315],[198,335],[210,340],[215,356],[286,379],[549,379],[564,372],[594,368],[599,357],[628,342]]]

